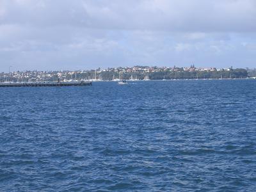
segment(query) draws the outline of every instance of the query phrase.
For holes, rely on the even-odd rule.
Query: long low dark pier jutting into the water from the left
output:
[[[22,86],[92,86],[92,82],[26,82],[26,83],[0,83],[0,87],[22,87]]]

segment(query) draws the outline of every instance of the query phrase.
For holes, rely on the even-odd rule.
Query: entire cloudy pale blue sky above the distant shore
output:
[[[0,71],[256,67],[255,0],[0,0]]]

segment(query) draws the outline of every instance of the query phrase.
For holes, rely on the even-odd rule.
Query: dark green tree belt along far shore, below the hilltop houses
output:
[[[143,80],[145,77],[151,80],[162,80],[162,79],[225,79],[225,78],[246,78],[248,77],[248,72],[244,68],[230,68],[230,70],[212,70],[212,71],[186,71],[186,70],[166,70],[159,72],[115,72],[115,71],[103,71],[96,73],[96,79],[101,79],[104,81],[111,81],[113,79],[138,79]],[[30,77],[4,77],[0,74],[0,81],[12,81],[12,82],[26,82],[26,81],[61,81],[68,80],[86,80],[95,79],[95,70],[90,70],[86,72],[75,72],[74,74],[65,74],[65,76],[58,76],[57,74],[52,74],[52,76],[38,77],[36,75]]]

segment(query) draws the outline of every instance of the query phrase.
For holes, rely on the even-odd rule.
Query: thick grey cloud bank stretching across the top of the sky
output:
[[[255,31],[254,0],[1,0],[2,24],[99,29]]]

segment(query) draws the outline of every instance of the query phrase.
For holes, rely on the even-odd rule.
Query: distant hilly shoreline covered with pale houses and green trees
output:
[[[97,68],[76,71],[22,71],[0,73],[1,82],[44,82],[44,81],[81,81],[115,79],[195,79],[195,78],[244,78],[256,76],[256,69],[196,68],[191,67],[117,67]]]

